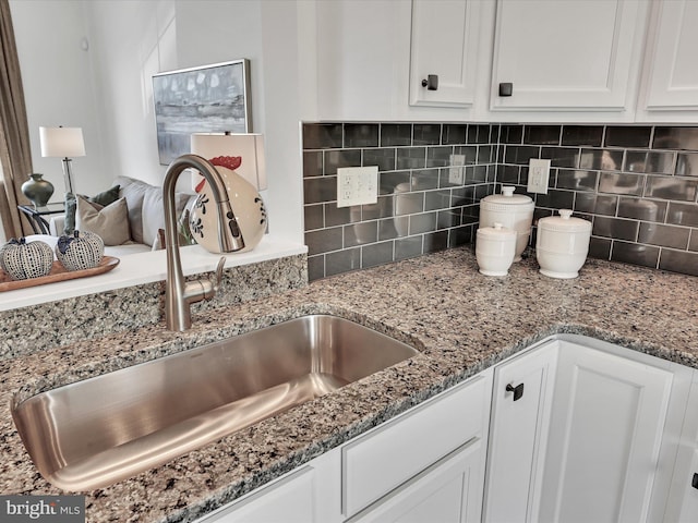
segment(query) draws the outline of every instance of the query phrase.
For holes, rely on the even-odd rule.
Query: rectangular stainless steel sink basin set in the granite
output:
[[[353,321],[304,316],[43,392],[12,416],[47,481],[92,490],[417,353]]]

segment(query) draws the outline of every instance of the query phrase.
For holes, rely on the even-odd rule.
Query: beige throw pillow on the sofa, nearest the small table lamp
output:
[[[79,195],[76,207],[75,227],[79,231],[94,232],[101,236],[105,245],[122,245],[131,240],[125,198],[105,207]]]

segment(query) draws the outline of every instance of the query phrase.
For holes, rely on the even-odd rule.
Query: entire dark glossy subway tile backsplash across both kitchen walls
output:
[[[530,158],[551,160],[534,220],[571,208],[590,256],[698,276],[698,126],[306,123],[310,279],[472,243],[480,199],[526,193]],[[378,166],[377,204],[337,208],[337,169],[359,166]]]

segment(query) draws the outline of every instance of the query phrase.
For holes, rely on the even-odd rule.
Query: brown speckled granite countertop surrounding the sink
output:
[[[0,363],[0,492],[62,494],[33,465],[10,414],[19,399],[304,314],[382,330],[421,354],[339,391],[86,495],[89,522],[193,521],[410,406],[557,332],[592,336],[698,368],[698,278],[590,259],[579,278],[506,278],[449,250],[256,302]]]

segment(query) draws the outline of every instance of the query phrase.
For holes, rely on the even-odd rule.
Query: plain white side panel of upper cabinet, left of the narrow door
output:
[[[309,120],[393,120],[407,110],[409,1],[299,2],[314,28],[302,60]],[[312,31],[312,29],[311,29]],[[404,108],[404,109],[401,109]]]

